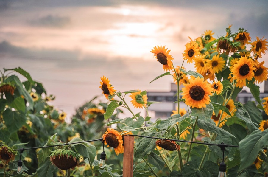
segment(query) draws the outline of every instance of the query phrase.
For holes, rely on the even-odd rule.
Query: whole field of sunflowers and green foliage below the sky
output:
[[[267,39],[253,40],[247,30],[231,32],[231,26],[226,35],[213,35],[206,30],[190,39],[181,66],[173,65],[176,59],[166,46],[153,47],[164,73],[151,82],[172,77],[177,84],[177,109],[154,122],[148,110],[158,103],[148,101],[147,91],[117,91],[102,76],[99,88],[107,103],[94,97],[67,124],[65,112],[50,105],[54,96],[47,95],[41,83],[22,68],[4,69],[0,176],[119,177],[124,136],[135,137],[135,177],[268,176],[268,93],[260,97],[257,85],[268,78],[261,61]],[[195,71],[187,70],[185,62],[193,63]],[[243,88],[250,90],[254,101],[237,101]],[[187,109],[180,108],[182,104]],[[144,109],[146,116],[135,108]],[[122,110],[132,117],[119,119]]]

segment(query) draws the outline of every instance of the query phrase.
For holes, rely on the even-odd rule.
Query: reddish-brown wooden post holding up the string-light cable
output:
[[[134,136],[124,136],[123,177],[133,177]]]

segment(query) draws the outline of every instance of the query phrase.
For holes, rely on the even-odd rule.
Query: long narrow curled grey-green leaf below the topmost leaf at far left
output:
[[[16,84],[16,90],[18,90],[20,95],[23,95],[24,98],[28,101],[29,103],[29,108],[33,109],[33,100],[32,97],[30,96],[30,94],[27,92],[27,90],[23,87],[23,84],[21,83],[21,81],[19,80],[19,78],[15,75],[12,75],[10,77],[8,77],[6,80],[6,82],[15,82]]]

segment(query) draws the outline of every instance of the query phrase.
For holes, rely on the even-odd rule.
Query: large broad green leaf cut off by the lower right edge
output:
[[[268,129],[255,130],[239,142],[241,165],[239,171],[250,166],[258,156],[259,151],[268,146]]]

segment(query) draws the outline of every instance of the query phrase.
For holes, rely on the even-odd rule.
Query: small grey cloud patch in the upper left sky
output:
[[[71,20],[69,17],[60,17],[58,15],[47,15],[38,19],[29,21],[33,26],[38,27],[54,27],[62,28],[70,24]]]

